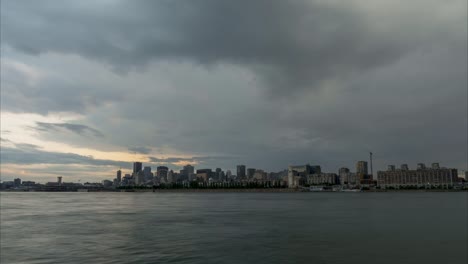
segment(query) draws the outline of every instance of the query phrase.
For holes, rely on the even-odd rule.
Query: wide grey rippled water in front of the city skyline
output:
[[[1,193],[3,263],[460,263],[468,193]]]

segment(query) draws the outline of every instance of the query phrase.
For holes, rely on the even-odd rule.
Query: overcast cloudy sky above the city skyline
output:
[[[1,1],[1,179],[467,169],[466,0]]]

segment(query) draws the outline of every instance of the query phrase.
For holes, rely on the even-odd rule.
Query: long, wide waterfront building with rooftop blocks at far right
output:
[[[401,187],[440,187],[453,186],[458,181],[457,169],[431,166],[426,168],[423,163],[416,170],[387,170],[377,172],[377,183],[381,188]]]

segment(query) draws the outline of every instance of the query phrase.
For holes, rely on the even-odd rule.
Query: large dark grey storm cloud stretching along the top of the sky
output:
[[[386,65],[424,41],[381,34],[352,5],[325,1],[3,5],[2,41],[26,53],[75,53],[116,69],[158,59],[238,64],[282,95]]]

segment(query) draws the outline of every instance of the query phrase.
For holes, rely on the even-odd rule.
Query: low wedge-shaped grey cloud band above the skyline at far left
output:
[[[28,145],[28,146],[27,146]],[[94,166],[125,166],[131,163],[125,161],[94,159],[91,156],[82,156],[73,153],[42,151],[30,144],[16,144],[16,148],[2,147],[2,164],[83,164]]]

